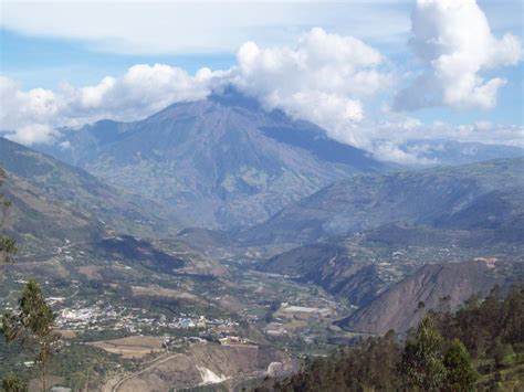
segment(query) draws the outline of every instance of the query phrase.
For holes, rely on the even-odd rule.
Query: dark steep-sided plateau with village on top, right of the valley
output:
[[[322,286],[364,307],[427,264],[478,257],[522,261],[522,240],[502,227],[452,230],[391,223],[298,246],[259,263],[258,268]]]

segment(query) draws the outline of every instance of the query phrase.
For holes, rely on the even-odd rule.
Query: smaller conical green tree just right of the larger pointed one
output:
[[[447,369],[446,390],[472,391],[479,374],[471,364],[471,357],[459,339],[453,339],[446,350],[444,367]]]

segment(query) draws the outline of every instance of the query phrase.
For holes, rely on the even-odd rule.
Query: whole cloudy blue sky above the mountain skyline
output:
[[[384,159],[410,139],[524,147],[520,0],[0,0],[0,129],[135,120],[227,85]]]

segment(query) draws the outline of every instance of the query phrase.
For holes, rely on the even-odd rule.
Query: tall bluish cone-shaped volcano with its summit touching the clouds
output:
[[[261,222],[336,180],[387,168],[232,89],[135,123],[65,130],[55,146],[41,149],[207,229]]]

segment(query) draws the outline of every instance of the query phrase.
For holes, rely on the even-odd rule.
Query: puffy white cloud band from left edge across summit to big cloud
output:
[[[334,138],[353,142],[347,129],[365,117],[363,99],[391,83],[390,74],[382,71],[385,63],[378,51],[355,38],[313,29],[295,47],[263,49],[248,42],[238,51],[237,64],[226,71],[201,68],[189,75],[165,64],[139,64],[92,86],[63,84],[56,91],[29,92],[2,78],[0,94],[6,106],[0,129],[12,131],[10,138],[28,145],[49,142],[57,127],[102,118],[139,119],[171,103],[201,99],[232,84],[269,109],[281,108],[315,121]]]

